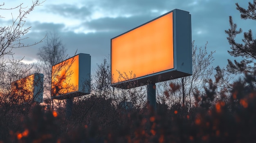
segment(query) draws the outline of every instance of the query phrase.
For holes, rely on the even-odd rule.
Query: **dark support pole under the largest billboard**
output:
[[[156,110],[156,86],[153,83],[148,83],[147,85],[147,100],[149,103],[149,106],[153,108],[153,110]]]

